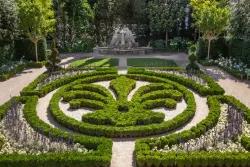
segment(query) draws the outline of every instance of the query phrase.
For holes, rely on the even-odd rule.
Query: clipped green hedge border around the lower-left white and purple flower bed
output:
[[[30,127],[28,129],[31,132],[37,133],[37,137],[44,142],[46,140],[53,140],[53,142],[60,142],[60,147],[63,146],[63,141],[68,145],[69,143],[79,143],[90,152],[82,152],[79,145],[77,150],[68,150],[66,152],[58,153],[42,153],[42,154],[4,154],[1,155],[0,165],[1,166],[96,166],[96,167],[106,167],[111,161],[112,152],[112,141],[104,138],[88,137],[84,135],[70,135],[69,133],[63,132],[59,129],[52,128],[50,125],[41,121],[36,115],[36,104],[38,101],[37,96],[33,97],[18,97],[15,98],[17,101],[21,101],[25,104],[24,107],[24,117]],[[0,106],[1,118],[12,108],[12,100],[6,102],[4,105]],[[10,113],[10,112],[8,112]],[[15,116],[12,115],[12,116]],[[4,119],[8,119],[7,116]],[[13,121],[14,122],[14,121]],[[27,125],[28,126],[28,125]],[[26,127],[27,128],[27,127]],[[24,129],[22,129],[24,130]],[[29,133],[31,133],[29,132]],[[24,135],[23,133],[21,134]],[[28,138],[27,138],[28,139]],[[69,139],[71,142],[69,142]],[[23,138],[22,138],[23,140]],[[50,144],[53,144],[50,143]],[[66,146],[65,145],[65,146]],[[66,146],[67,147],[67,146]],[[60,150],[62,151],[62,150]]]

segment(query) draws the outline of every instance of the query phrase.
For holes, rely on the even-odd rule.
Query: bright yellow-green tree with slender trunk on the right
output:
[[[204,38],[208,40],[208,59],[210,58],[211,41],[229,28],[231,12],[228,5],[222,4],[224,2],[210,0],[198,5],[199,10],[197,10],[197,6],[192,6],[197,14],[195,24],[203,33]]]

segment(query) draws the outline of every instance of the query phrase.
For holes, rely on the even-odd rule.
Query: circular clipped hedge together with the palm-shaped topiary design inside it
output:
[[[128,101],[136,80],[151,84],[139,88]],[[103,86],[92,84],[98,81],[111,81],[110,87],[118,99],[115,100]],[[164,121],[163,113],[150,110],[155,107],[173,109],[183,98],[187,108],[172,120]],[[77,121],[60,109],[61,99],[69,102],[73,109],[89,107],[95,111],[84,114],[82,121]],[[184,86],[167,79],[142,78],[140,75],[97,75],[78,79],[61,87],[50,101],[51,114],[60,124],[80,133],[105,137],[139,137],[172,131],[187,123],[195,110],[194,96]]]

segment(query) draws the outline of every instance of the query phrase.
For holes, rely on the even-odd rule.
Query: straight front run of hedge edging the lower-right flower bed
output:
[[[145,155],[138,161],[140,167],[248,167],[250,153],[243,152],[168,152],[164,155]],[[146,165],[144,165],[144,162]]]

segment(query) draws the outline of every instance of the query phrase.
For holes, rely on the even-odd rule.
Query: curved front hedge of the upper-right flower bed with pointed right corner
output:
[[[128,70],[128,74],[141,74],[141,75],[149,75],[149,76],[156,76],[156,77],[160,77],[164,79],[169,79],[177,83],[180,83],[181,85],[184,85],[190,89],[195,90],[201,96],[222,95],[225,93],[224,89],[218,83],[216,83],[211,77],[209,77],[202,71],[200,71],[200,74],[201,74],[200,77],[207,82],[208,88],[190,79],[176,76],[176,75],[169,74],[169,73],[157,73],[153,71],[146,71],[145,69],[130,68]]]

